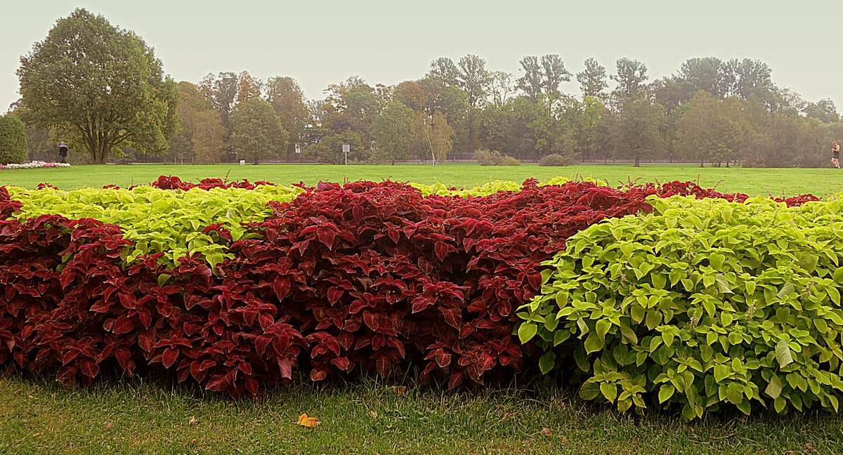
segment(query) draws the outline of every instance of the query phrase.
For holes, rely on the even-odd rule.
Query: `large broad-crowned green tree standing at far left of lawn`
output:
[[[179,90],[130,30],[78,8],[21,57],[24,121],[52,127],[105,163],[119,147],[162,151],[179,129]]]

